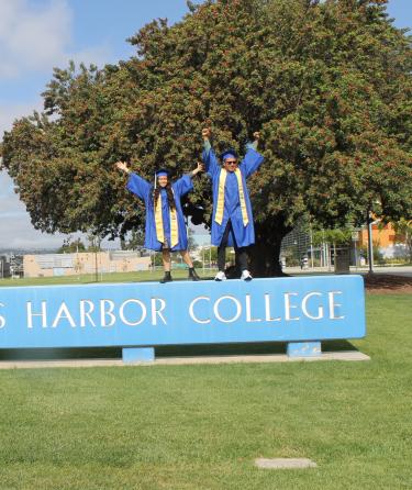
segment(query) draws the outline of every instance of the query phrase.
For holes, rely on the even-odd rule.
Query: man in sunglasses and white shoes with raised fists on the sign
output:
[[[254,143],[248,143],[247,153],[238,164],[236,152],[227,149],[221,155],[222,167],[211,147],[211,130],[202,131],[204,149],[203,162],[205,170],[212,178],[213,213],[212,213],[212,245],[218,246],[216,281],[226,279],[224,274],[225,253],[227,246],[233,246],[236,263],[240,264],[241,279],[252,280],[247,270],[247,247],[255,243],[252,205],[246,179],[254,174],[264,157],[257,153],[259,133],[254,133]]]

